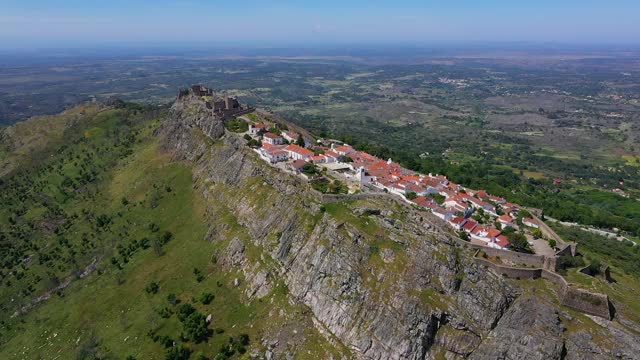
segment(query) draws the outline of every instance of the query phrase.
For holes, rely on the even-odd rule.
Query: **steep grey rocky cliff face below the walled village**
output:
[[[176,159],[194,163],[208,239],[221,245],[212,256],[242,274],[247,300],[284,283],[344,358],[586,358],[567,354],[563,319],[571,316],[551,291],[473,264],[431,215],[381,198],[321,204],[225,135],[193,98],[173,106],[159,135]],[[295,353],[295,338],[277,344],[268,355]],[[593,346],[590,355],[610,355]],[[623,358],[636,356],[633,344],[620,348]]]

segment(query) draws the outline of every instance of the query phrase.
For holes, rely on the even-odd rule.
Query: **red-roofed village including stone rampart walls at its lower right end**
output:
[[[475,249],[474,263],[509,278],[547,279],[559,287],[563,305],[612,318],[606,294],[580,289],[557,273],[563,257],[578,254],[577,247],[536,217],[539,210],[469,189],[445,175],[417,173],[338,140],[317,138],[273,114],[240,108],[224,121],[226,130],[243,137],[270,166],[301,178],[328,198],[383,195],[430,211],[457,235],[454,241]],[[608,266],[602,272],[604,281],[612,281]]]

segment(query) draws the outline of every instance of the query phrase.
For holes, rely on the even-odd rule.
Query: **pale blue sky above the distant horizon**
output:
[[[639,0],[0,0],[0,48],[638,43]]]

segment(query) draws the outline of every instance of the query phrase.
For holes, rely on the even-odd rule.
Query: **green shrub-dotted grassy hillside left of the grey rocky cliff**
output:
[[[205,240],[191,168],[153,135],[160,116],[133,107],[83,116],[64,145],[41,149],[49,157],[2,178],[0,358],[248,358],[257,334],[285,321],[274,305],[308,329],[303,354],[324,357],[331,346],[286,291],[242,302],[239,275],[212,261],[226,242]]]

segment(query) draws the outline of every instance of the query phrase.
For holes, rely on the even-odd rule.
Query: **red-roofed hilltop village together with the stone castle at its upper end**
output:
[[[325,194],[383,192],[425,209],[446,222],[463,240],[495,249],[553,255],[561,239],[526,209],[506,199],[449,181],[445,175],[419,174],[392,159],[380,159],[333,139],[313,138],[282,121],[262,116],[231,96],[195,85],[213,116],[270,165],[293,173]],[[289,124],[293,127],[293,124]],[[307,135],[303,136],[305,132]],[[560,244],[558,244],[560,245]]]

